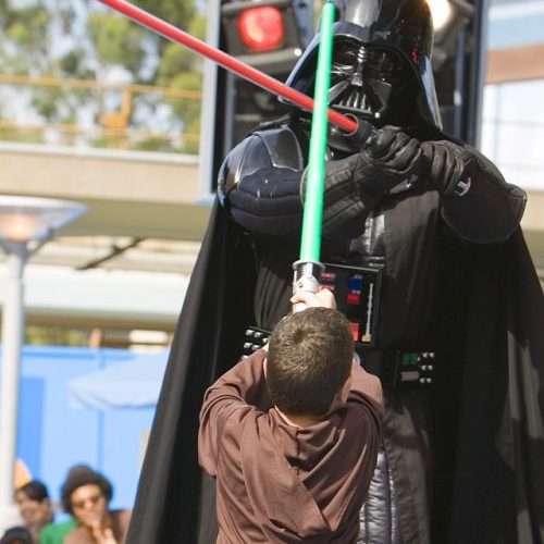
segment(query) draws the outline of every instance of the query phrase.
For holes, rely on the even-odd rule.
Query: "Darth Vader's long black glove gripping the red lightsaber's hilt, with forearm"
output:
[[[362,233],[364,219],[382,197],[403,182],[412,183],[420,170],[418,140],[400,128],[385,126],[371,144],[346,159],[326,163],[323,232],[331,238]],[[301,197],[306,194],[306,171]]]

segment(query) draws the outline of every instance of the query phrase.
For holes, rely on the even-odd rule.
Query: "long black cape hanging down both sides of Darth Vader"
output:
[[[450,542],[544,543],[542,287],[519,231],[475,246],[471,261],[470,274],[459,274],[467,333],[444,334],[466,362],[437,376],[436,413],[452,430],[437,450],[454,469],[442,474],[434,502],[448,512]],[[215,542],[213,482],[197,465],[198,413],[255,323],[256,271],[249,238],[215,203],[172,345],[129,544]]]

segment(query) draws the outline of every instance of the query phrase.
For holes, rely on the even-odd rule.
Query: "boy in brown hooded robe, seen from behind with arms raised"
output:
[[[381,385],[354,362],[349,323],[329,290],[292,301],[308,308],[276,325],[268,355],[242,360],[205,396],[199,462],[217,478],[218,544],[357,539]]]

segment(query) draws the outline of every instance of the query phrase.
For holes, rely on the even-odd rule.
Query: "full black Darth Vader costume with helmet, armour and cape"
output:
[[[544,297],[519,230],[524,193],[441,132],[426,2],[335,3],[330,101],[375,127],[362,143],[331,131],[322,239],[324,262],[381,279],[372,342],[358,338],[386,398],[359,542],[544,542]],[[307,94],[318,44],[319,34],[287,82]],[[293,111],[223,163],[131,543],[214,542],[198,412],[207,386],[240,357],[246,329],[270,330],[289,311],[309,132]],[[420,380],[421,366],[392,374],[391,360],[425,354],[431,378]]]

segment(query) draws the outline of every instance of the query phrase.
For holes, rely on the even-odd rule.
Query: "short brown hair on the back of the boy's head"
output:
[[[285,317],[269,341],[272,403],[285,413],[326,413],[350,374],[353,358],[351,329],[337,310],[307,308]]]

